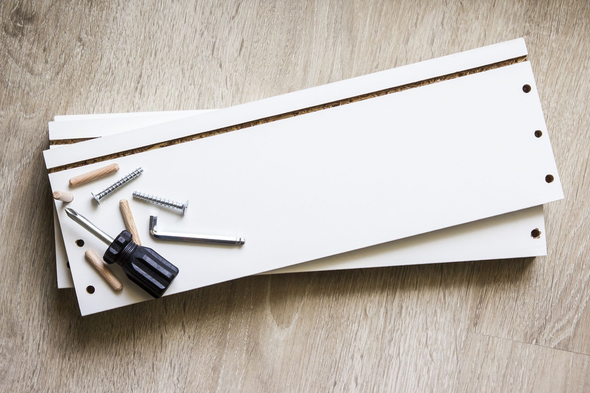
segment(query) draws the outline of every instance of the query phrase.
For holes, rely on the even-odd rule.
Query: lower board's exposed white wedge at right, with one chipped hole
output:
[[[545,239],[543,206],[535,206],[261,274],[542,256]]]

